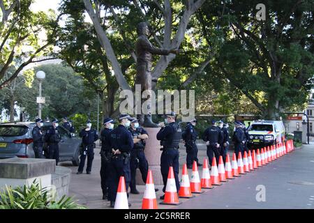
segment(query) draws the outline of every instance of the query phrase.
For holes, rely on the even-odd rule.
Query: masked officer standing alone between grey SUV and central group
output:
[[[77,169],[77,174],[82,174],[85,160],[87,156],[87,168],[86,173],[91,174],[91,165],[94,160],[94,148],[96,147],[95,141],[98,140],[98,132],[91,128],[91,121],[87,120],[87,128],[84,128],[80,132],[80,137],[82,137],[82,155],[80,156],[80,166]]]

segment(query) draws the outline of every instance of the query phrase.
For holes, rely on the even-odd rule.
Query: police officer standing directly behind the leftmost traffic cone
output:
[[[130,151],[134,144],[132,134],[127,128],[130,126],[131,120],[129,115],[121,114],[119,125],[110,134],[112,158],[108,167],[110,169],[108,199],[111,208],[114,208],[120,176],[124,176],[126,191],[128,191],[130,183]],[[130,206],[130,203],[128,205]]]

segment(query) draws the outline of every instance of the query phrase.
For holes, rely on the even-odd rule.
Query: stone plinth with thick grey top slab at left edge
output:
[[[0,160],[0,189],[31,185],[38,180],[42,187],[51,186],[51,174],[56,168],[55,160],[10,158]]]

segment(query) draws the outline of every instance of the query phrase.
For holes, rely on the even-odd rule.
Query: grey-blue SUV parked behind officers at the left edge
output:
[[[43,134],[52,125],[50,122],[44,122]],[[33,137],[31,131],[36,126],[33,122],[16,122],[0,124],[0,159],[11,157],[33,158]],[[61,141],[59,142],[60,162],[72,161],[74,166],[80,164],[80,151],[82,139],[75,137],[68,130],[59,125]],[[47,144],[44,144],[43,150],[47,155]]]

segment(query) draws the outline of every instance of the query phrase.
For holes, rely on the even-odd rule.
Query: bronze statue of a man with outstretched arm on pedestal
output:
[[[168,55],[178,54],[179,49],[160,49],[156,48],[149,42],[147,36],[149,36],[149,28],[146,22],[140,22],[137,24],[137,75],[135,84],[141,84],[141,94],[145,90],[151,90],[151,59],[152,54]],[[147,106],[147,110],[150,110],[150,103]],[[157,128],[158,125],[151,120],[151,114],[139,114],[137,119],[144,127]]]

